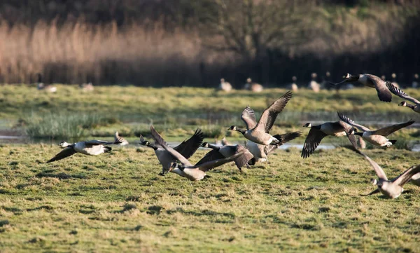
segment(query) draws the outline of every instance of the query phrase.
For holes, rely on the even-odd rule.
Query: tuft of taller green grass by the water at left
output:
[[[34,114],[25,119],[25,132],[32,138],[80,139],[90,130],[115,119],[98,114]]]

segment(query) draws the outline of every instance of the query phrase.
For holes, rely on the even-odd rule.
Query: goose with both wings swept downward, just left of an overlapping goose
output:
[[[321,143],[321,140],[328,135],[341,137],[347,135],[351,144],[357,149],[356,137],[354,137],[354,128],[344,121],[325,122],[321,125],[312,125],[306,123],[304,128],[311,128],[307,138],[304,140],[302,149],[302,158],[308,158],[311,153],[314,153],[316,147]]]

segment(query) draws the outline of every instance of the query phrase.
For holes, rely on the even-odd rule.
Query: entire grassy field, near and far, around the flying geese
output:
[[[2,86],[1,127],[20,124],[25,130],[31,122],[43,125],[66,121],[66,115],[90,115],[97,119],[77,122],[82,125],[76,127],[86,131],[81,139],[110,139],[120,130],[130,141],[138,140],[134,135],[147,134],[153,123],[172,141],[200,127],[205,141],[211,142],[226,135],[228,126],[242,125],[239,116],[247,104],[259,115],[267,102],[286,91],[225,95],[200,88],[58,90],[45,94],[33,87]],[[407,93],[420,97],[416,90]],[[336,120],[337,110],[378,121],[418,118],[398,102],[379,102],[376,92],[367,88],[343,91],[339,97],[333,91],[302,90],[279,115],[273,131],[302,130],[300,122],[309,119]],[[304,137],[296,142],[303,143]],[[392,137],[405,142],[419,135],[411,128]],[[346,143],[345,138],[329,140]],[[407,184],[395,200],[360,196],[374,189],[369,181],[375,175],[366,160],[348,149],[316,151],[305,160],[298,149],[279,150],[269,163],[244,173],[228,164],[211,170],[209,179],[189,182],[172,173],[159,176],[153,150],[139,146],[37,163],[60,151],[45,142],[0,144],[1,253],[419,252],[419,187]],[[200,149],[191,160],[196,162],[205,152]],[[388,177],[419,160],[419,153],[395,147],[365,153]]]

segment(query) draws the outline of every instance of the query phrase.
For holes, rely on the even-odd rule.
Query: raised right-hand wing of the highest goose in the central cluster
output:
[[[292,98],[293,94],[289,90],[287,93],[284,93],[278,100],[274,101],[265,111],[262,113],[260,121],[255,128],[260,131],[269,132],[269,130],[274,125],[277,115],[286,107],[287,102]]]

